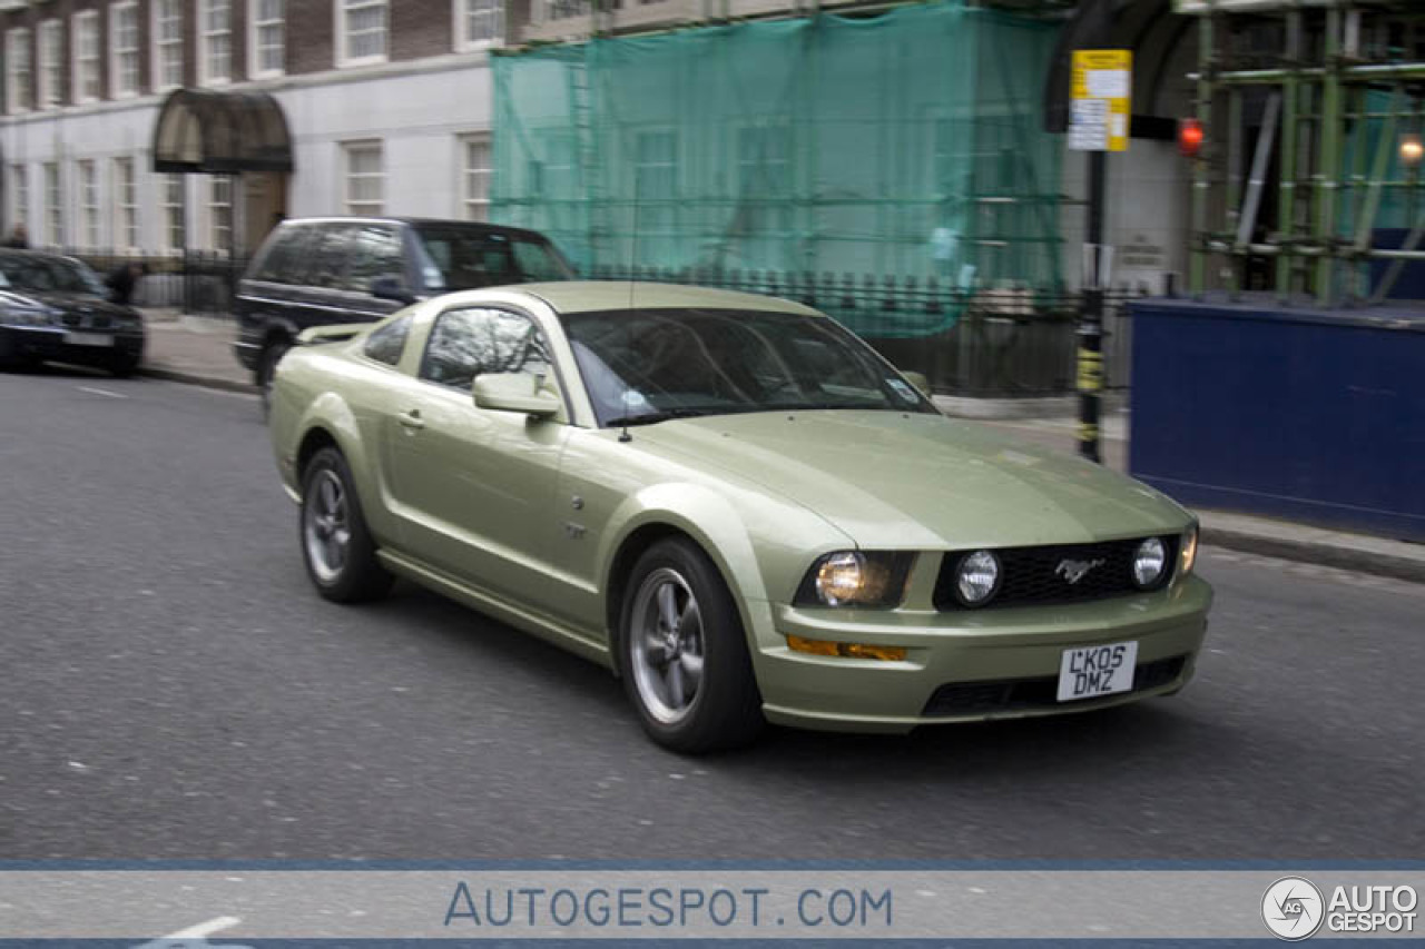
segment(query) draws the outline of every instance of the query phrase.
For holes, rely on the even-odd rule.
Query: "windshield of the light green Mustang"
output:
[[[563,316],[598,423],[804,409],[933,412],[826,316],[636,309]]]

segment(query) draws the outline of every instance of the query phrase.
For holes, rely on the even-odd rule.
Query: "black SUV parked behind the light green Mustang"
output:
[[[274,368],[308,326],[369,322],[457,289],[573,276],[536,231],[419,218],[284,221],[242,275],[234,352],[265,400]]]

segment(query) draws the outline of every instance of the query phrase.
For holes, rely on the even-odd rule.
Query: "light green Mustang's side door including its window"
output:
[[[549,353],[524,313],[447,309],[429,329],[418,379],[395,392],[383,429],[405,547],[466,583],[527,604],[539,603],[549,569],[567,415],[534,419],[480,409],[470,388],[487,372],[526,372],[550,385]]]

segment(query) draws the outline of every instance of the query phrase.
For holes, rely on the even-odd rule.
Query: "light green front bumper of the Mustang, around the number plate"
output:
[[[1207,630],[1211,587],[1197,577],[1167,590],[1072,606],[982,611],[842,611],[761,604],[754,668],[768,720],[836,731],[1020,718],[1117,705],[1180,690]],[[787,636],[901,645],[903,661],[809,655]],[[1134,688],[1059,702],[1063,651],[1139,644]]]

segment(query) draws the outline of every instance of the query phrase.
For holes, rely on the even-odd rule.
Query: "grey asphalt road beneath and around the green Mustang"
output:
[[[1425,587],[1206,550],[1183,695],[687,759],[413,587],[339,607],[248,398],[0,375],[0,858],[1416,858]]]

